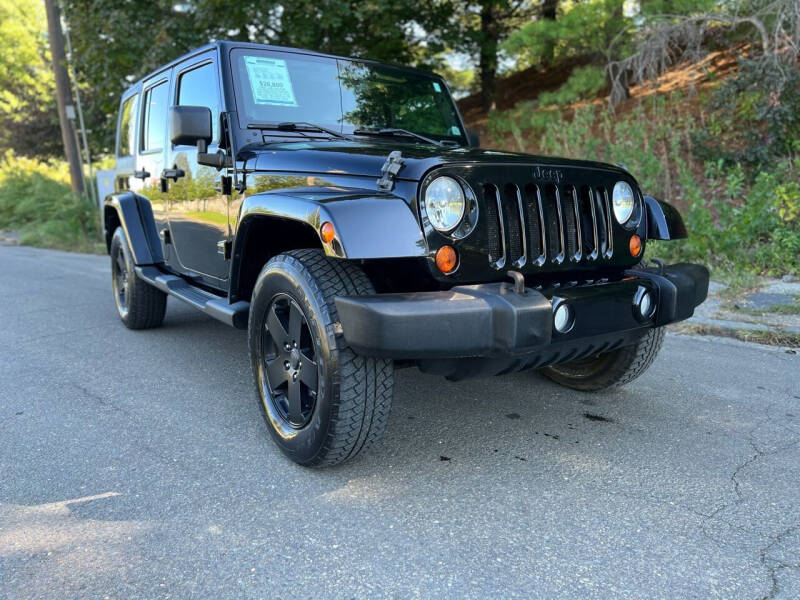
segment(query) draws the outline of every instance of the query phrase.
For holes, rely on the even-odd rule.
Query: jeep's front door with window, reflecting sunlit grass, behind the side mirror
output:
[[[175,70],[173,104],[211,109],[213,137],[208,152],[219,143],[219,75],[214,54],[193,58]],[[169,182],[169,228],[182,270],[208,285],[225,287],[229,261],[221,244],[230,237],[228,199],[216,191],[219,172],[197,164],[197,148],[169,144],[169,167],[184,176]]]

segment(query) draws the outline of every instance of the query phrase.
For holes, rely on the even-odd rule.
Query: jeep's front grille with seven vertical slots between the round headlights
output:
[[[613,256],[605,186],[485,184],[487,253],[497,269]]]

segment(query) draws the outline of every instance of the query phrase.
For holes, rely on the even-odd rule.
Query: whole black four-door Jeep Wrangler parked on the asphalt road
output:
[[[272,437],[302,465],[383,433],[393,372],[541,369],[600,390],[703,302],[698,265],[645,266],[680,215],[625,169],[480,150],[432,73],[217,42],[124,94],[105,199],[114,300],[168,295],[248,330]]]

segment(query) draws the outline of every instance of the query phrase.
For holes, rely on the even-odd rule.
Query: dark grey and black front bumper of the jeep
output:
[[[655,302],[648,317],[639,314],[634,302],[642,289]],[[691,317],[707,292],[705,267],[677,264],[626,271],[618,281],[525,288],[524,294],[511,283],[491,283],[442,292],[338,297],[336,308],[347,343],[365,356],[477,357],[497,359],[496,365],[513,359],[522,368],[633,343],[652,327]],[[553,308],[559,303],[567,303],[574,316],[566,333],[553,327]]]

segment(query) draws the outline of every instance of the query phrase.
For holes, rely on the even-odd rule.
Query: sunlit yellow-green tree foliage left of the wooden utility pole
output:
[[[0,153],[61,152],[42,2],[0,0]]]

